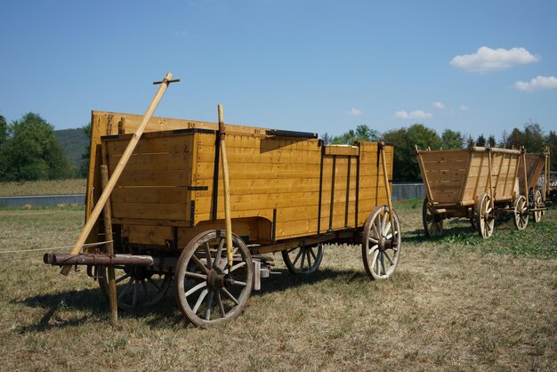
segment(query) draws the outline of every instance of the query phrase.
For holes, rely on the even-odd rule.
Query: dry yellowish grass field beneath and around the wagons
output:
[[[172,294],[112,328],[85,269],[62,277],[42,252],[0,254],[0,370],[557,370],[557,211],[524,231],[498,222],[488,240],[450,222],[430,240],[420,202],[396,207],[391,279],[367,278],[359,246],[327,247],[304,278],[275,255],[281,274],[206,330]],[[83,213],[0,210],[0,250],[71,245]]]

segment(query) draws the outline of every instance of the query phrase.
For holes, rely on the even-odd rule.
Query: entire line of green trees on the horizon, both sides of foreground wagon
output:
[[[91,125],[82,127],[87,138]],[[513,128],[506,131],[497,142],[494,135],[487,138],[464,136],[459,131],[446,129],[439,135],[423,124],[408,128],[392,129],[380,133],[367,125],[337,136],[325,133],[323,142],[327,144],[351,144],[359,141],[383,141],[395,147],[393,158],[393,181],[416,182],[421,180],[414,147],[424,150],[464,149],[470,146],[491,146],[506,149],[519,149],[524,146],[528,152],[543,152],[549,146],[552,154],[552,170],[557,169],[557,134],[555,131],[544,133],[541,126],[530,121],[521,130]],[[84,149],[80,166],[71,164],[64,155],[54,133],[54,127],[35,113],[23,115],[20,120],[8,124],[0,116],[0,181],[56,180],[73,177],[86,177],[89,166],[89,149]]]

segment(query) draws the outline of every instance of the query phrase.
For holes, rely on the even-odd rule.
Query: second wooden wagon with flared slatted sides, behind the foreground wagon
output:
[[[422,217],[426,235],[441,235],[443,220],[464,217],[482,238],[489,238],[496,216],[509,213],[517,229],[526,228],[529,204],[525,183],[520,185],[518,177],[526,156],[523,150],[416,147],[415,152],[425,185]],[[528,176],[524,174],[522,180]]]

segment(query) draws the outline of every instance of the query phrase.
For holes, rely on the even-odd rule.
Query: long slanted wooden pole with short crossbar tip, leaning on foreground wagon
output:
[[[79,238],[77,238],[76,246],[71,249],[70,252],[71,255],[77,255],[79,251],[81,251],[81,247],[83,247],[85,243],[85,239],[87,239],[87,237],[91,233],[91,230],[93,230],[94,224],[97,222],[99,215],[101,215],[102,209],[104,208],[104,205],[107,203],[110,193],[112,192],[112,190],[114,190],[114,187],[116,186],[116,183],[120,178],[120,175],[124,171],[124,167],[127,164],[127,161],[132,156],[133,150],[135,150],[135,147],[137,146],[137,143],[141,138],[141,134],[143,134],[143,131],[145,130],[145,127],[149,124],[149,120],[153,116],[155,109],[157,109],[158,102],[165,94],[166,88],[170,83],[180,81],[180,79],[173,80],[172,77],[173,75],[169,72],[166,74],[165,78],[162,81],[157,81],[153,83],[154,85],[160,85],[158,87],[158,91],[155,94],[155,97],[153,97],[151,103],[149,104],[149,108],[147,109],[147,111],[145,111],[145,115],[143,116],[141,125],[139,126],[139,128],[137,128],[135,133],[133,133],[133,137],[128,143],[127,147],[125,148],[122,158],[120,158],[116,168],[112,172],[112,176],[110,177],[109,182],[107,183],[107,187],[104,190],[102,190],[101,197],[99,198],[97,204],[93,208],[93,212],[91,212],[91,214],[89,215],[89,219],[85,223],[85,227],[81,231],[81,235],[79,235]],[[62,275],[68,275],[70,270],[71,270],[71,266],[65,265],[62,267],[62,270],[60,272]]]

